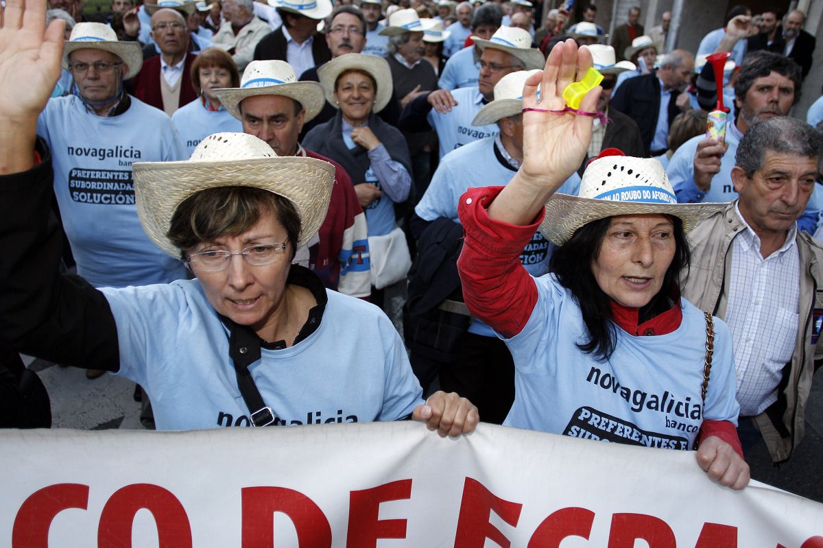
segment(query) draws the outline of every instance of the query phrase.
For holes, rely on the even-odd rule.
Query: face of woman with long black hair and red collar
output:
[[[592,273],[612,300],[639,308],[660,291],[676,250],[674,225],[667,216],[615,216],[592,262]]]

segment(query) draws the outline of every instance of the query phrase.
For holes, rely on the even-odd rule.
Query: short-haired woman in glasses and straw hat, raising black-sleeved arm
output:
[[[441,434],[474,429],[477,410],[456,394],[423,402],[379,309],[291,267],[328,207],[333,167],[321,160],[277,157],[257,137],[217,133],[190,160],[137,163],[146,234],[196,279],[96,290],[59,274],[49,151],[35,149],[35,128],[59,76],[63,23],[44,32],[44,3],[23,4],[8,0],[0,28],[0,93],[10,98],[0,106],[4,340],[137,381],[161,430],[406,416]],[[12,93],[20,81],[25,95]]]

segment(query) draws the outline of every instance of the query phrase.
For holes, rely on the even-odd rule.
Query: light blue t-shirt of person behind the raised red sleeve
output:
[[[456,151],[449,152],[440,160],[440,164],[431,178],[429,188],[420,202],[414,208],[415,213],[424,221],[434,221],[439,217],[446,217],[459,223],[458,201],[469,188],[485,187],[487,185],[505,185],[514,177],[517,170],[504,165],[500,160],[500,152],[495,151],[495,137],[486,137],[461,146]],[[571,174],[557,192],[577,195],[580,189],[580,177]],[[549,260],[554,245],[536,232],[532,241],[523,248],[520,261],[523,267],[532,276],[542,276],[548,272]],[[495,337],[491,327],[473,318],[469,332],[484,337]]]

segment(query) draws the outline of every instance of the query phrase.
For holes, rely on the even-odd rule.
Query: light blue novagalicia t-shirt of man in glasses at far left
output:
[[[144,286],[185,277],[137,220],[132,162],[184,160],[171,119],[134,97],[123,114],[100,117],[77,95],[49,100],[37,132],[52,152],[54,194],[77,273],[92,286]]]

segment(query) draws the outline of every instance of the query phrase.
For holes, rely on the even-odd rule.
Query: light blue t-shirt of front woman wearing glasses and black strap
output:
[[[103,290],[118,326],[119,375],[146,389],[157,430],[248,426],[228,330],[197,280]],[[398,420],[423,403],[391,321],[374,304],[327,290],[317,330],[261,349],[249,365],[276,425]]]

